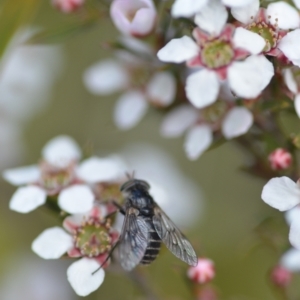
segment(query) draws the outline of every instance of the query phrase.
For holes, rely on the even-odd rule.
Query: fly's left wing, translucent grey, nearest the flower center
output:
[[[119,256],[122,267],[132,270],[142,260],[148,245],[148,226],[134,208],[126,211],[120,237]]]

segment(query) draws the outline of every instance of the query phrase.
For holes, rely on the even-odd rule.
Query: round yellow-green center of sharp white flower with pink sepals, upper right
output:
[[[229,42],[213,40],[203,45],[202,60],[207,67],[216,69],[228,65],[234,58],[234,50]]]

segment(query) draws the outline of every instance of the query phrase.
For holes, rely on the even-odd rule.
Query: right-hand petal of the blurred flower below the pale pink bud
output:
[[[162,106],[170,105],[175,99],[176,81],[170,72],[155,73],[146,87],[147,96]]]

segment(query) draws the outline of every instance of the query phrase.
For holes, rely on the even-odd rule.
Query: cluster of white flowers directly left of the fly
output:
[[[45,145],[39,165],[9,169],[3,176],[21,186],[11,198],[10,209],[29,213],[48,205],[66,215],[63,227],[68,233],[60,227],[46,229],[33,241],[32,250],[44,259],[64,254],[81,258],[70,265],[67,276],[76,293],[86,296],[103,282],[103,269],[92,273],[118,238],[106,219],[115,208],[105,200],[120,198],[116,193],[124,171],[121,162],[112,157],[91,157],[79,163],[80,158],[75,141],[59,136]]]

